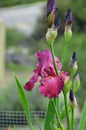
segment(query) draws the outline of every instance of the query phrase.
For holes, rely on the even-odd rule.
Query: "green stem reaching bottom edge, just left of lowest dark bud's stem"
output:
[[[68,112],[68,103],[67,103],[67,94],[64,94],[64,102],[65,102],[65,110],[66,110],[66,116],[67,116],[67,128],[70,130],[70,119],[69,119],[69,112]]]

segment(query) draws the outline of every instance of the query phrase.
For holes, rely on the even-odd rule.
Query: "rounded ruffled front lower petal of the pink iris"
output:
[[[64,82],[61,77],[47,77],[40,81],[39,91],[43,96],[55,98],[61,92]]]

